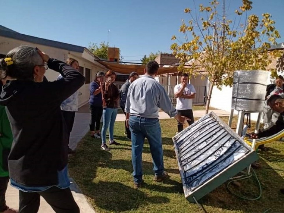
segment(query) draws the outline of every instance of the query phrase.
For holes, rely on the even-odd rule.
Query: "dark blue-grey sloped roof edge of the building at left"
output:
[[[69,51],[74,51],[74,52],[84,52],[85,47],[77,46],[77,45],[72,45],[72,44],[67,44],[63,42],[58,42],[58,41],[53,41],[53,40],[48,40],[44,38],[38,38],[35,36],[28,36],[22,33],[18,33],[16,31],[13,31],[5,26],[0,25],[0,36],[7,37],[7,38],[13,38],[17,40],[22,40],[26,42],[31,42],[31,43],[36,43],[40,45],[45,45],[49,47],[56,47],[59,49],[66,49]]]

